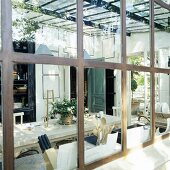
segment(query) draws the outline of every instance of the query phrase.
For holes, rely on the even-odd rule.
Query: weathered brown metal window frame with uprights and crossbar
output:
[[[25,1],[26,2],[26,1]],[[42,4],[39,8],[45,7],[50,3],[55,2],[55,0],[51,0],[47,3]],[[154,23],[154,5],[155,3],[166,8],[170,11],[170,6],[165,4],[161,0],[150,0],[150,18],[146,19],[145,17],[137,16],[138,12],[128,13],[134,20],[136,18],[140,18],[143,21],[149,22],[150,27],[150,53],[151,53],[151,67],[145,66],[134,66],[127,64],[126,61],[126,1],[121,1],[121,6],[115,7],[113,3],[118,2],[115,0],[113,2],[106,2],[103,0],[85,0],[85,2],[90,2],[91,5],[100,7],[101,3],[106,4],[106,9],[111,10],[112,8],[120,14],[121,17],[121,63],[107,63],[101,61],[92,61],[92,60],[84,60],[83,59],[83,8],[93,8],[91,5],[83,4],[83,0],[77,0],[76,10],[77,16],[77,59],[69,59],[69,58],[61,58],[61,57],[49,57],[48,55],[44,55],[43,57],[39,55],[33,54],[23,54],[23,53],[15,53],[12,50],[12,4],[11,0],[2,0],[1,1],[1,35],[2,35],[2,50],[0,52],[0,62],[2,63],[2,113],[3,113],[3,167],[5,170],[13,170],[14,169],[14,137],[13,137],[13,64],[14,63],[33,63],[33,64],[53,64],[53,65],[67,65],[67,66],[75,66],[77,67],[77,87],[78,87],[78,168],[79,169],[92,169],[96,166],[107,163],[116,158],[120,158],[123,155],[128,154],[128,149],[126,146],[126,134],[127,134],[127,110],[126,110],[126,93],[127,93],[127,71],[130,70],[139,70],[139,71],[147,71],[151,73],[151,96],[152,96],[152,137],[151,140],[144,143],[144,146],[148,146],[153,144],[155,141],[154,136],[154,112],[155,112],[155,73],[168,73],[170,74],[169,69],[163,68],[155,68],[154,67],[154,31],[155,27],[163,29],[162,25]],[[27,0],[28,3],[28,0]],[[141,4],[138,4],[141,5]],[[60,8],[60,10],[62,10]],[[72,12],[74,14],[74,12]],[[86,16],[89,17],[89,16]],[[148,17],[148,16],[147,16]],[[70,17],[67,19],[75,18]],[[86,21],[85,24],[90,24],[92,22]],[[84,68],[86,67],[101,67],[107,69],[120,69],[122,71],[122,131],[123,131],[123,140],[122,140],[122,152],[105,158],[101,161],[97,161],[90,165],[84,165]],[[165,135],[169,136],[169,135]]]

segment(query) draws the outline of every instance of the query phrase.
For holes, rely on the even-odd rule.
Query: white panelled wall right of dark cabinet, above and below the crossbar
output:
[[[46,45],[54,56],[71,58],[76,57],[77,40],[75,33],[67,32],[63,29],[43,27],[36,35],[36,49],[39,44]],[[37,121],[42,120],[42,117],[45,116],[47,111],[47,100],[43,97],[43,86],[48,90],[54,90],[55,99],[63,99],[64,97],[70,98],[70,67],[46,65],[45,70],[45,74],[56,74],[59,78],[59,82],[56,84],[56,87],[55,85],[53,86],[52,84],[49,84],[48,81],[44,82],[43,85],[42,64],[36,64]],[[53,79],[54,77],[51,78]]]

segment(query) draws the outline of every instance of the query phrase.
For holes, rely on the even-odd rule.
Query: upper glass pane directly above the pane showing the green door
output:
[[[84,58],[121,62],[120,2],[84,1]]]

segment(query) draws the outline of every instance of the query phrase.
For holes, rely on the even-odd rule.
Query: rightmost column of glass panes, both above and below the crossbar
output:
[[[165,2],[165,1],[164,1]],[[168,3],[166,1],[166,3]],[[155,67],[169,69],[169,10],[155,3],[154,22],[159,26],[155,28]],[[165,83],[166,82],[166,83]],[[155,74],[155,128],[156,136],[168,133],[169,121],[169,74]]]

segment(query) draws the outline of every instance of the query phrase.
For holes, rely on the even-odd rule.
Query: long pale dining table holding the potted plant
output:
[[[121,124],[120,117],[112,115],[104,115],[108,125],[118,126]],[[94,121],[95,120],[95,121]],[[96,122],[100,121],[100,118],[96,117],[96,114],[91,114],[84,117],[84,133],[90,135],[96,126]],[[94,123],[95,122],[95,123]],[[26,150],[29,148],[39,147],[38,136],[46,134],[51,142],[55,144],[56,142],[75,139],[78,135],[77,121],[70,125],[59,124],[58,119],[50,119],[48,121],[48,126],[43,121],[31,122],[23,124],[14,125],[14,149],[16,155],[21,152],[21,150]],[[0,147],[2,148],[2,126],[0,127]]]

